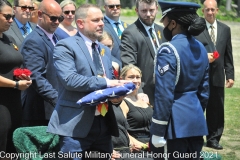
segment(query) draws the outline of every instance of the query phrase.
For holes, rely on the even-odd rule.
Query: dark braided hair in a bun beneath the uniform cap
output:
[[[195,12],[173,12],[166,16],[170,20],[175,20],[181,25],[182,30],[193,36],[199,35],[206,28],[205,19],[199,17]]]

